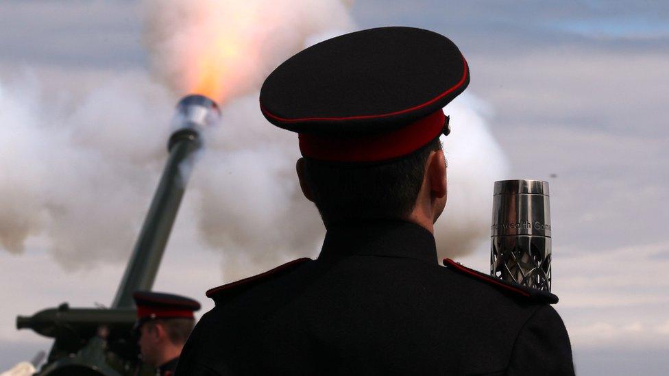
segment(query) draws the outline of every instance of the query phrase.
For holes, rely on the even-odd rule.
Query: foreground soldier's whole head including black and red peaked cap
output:
[[[267,77],[260,107],[299,134],[300,186],[326,226],[404,218],[431,227],[446,205],[442,108],[469,77],[448,38],[381,27],[297,53]]]

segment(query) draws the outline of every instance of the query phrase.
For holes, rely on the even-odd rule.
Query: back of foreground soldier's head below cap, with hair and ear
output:
[[[446,160],[438,137],[410,155],[369,166],[300,158],[297,175],[326,225],[352,218],[407,219],[416,210],[434,223],[446,206]]]

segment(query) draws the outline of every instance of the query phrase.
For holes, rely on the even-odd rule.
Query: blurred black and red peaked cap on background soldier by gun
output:
[[[136,291],[132,297],[137,305],[137,318],[194,318],[200,309],[197,301],[175,294]]]

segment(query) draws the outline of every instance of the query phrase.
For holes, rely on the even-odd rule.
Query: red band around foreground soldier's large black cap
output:
[[[443,129],[441,108],[406,127],[356,137],[299,134],[304,157],[328,162],[378,162],[401,157],[427,145]]]

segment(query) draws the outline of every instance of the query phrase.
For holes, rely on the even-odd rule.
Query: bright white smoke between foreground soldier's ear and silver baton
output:
[[[451,133],[441,137],[448,160],[448,200],[435,224],[435,238],[439,256],[454,258],[486,247],[494,182],[509,179],[509,167],[487,125],[492,114],[483,101],[465,92],[444,112],[451,117]]]

